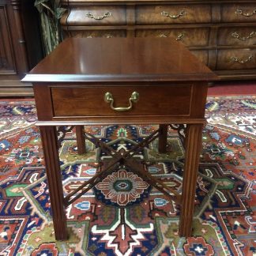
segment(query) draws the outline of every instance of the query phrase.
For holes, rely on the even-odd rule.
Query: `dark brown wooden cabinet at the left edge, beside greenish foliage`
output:
[[[32,96],[21,78],[43,58],[33,0],[0,0],[0,96]]]

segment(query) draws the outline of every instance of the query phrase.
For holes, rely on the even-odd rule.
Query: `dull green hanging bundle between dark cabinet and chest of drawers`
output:
[[[43,47],[48,55],[62,41],[59,19],[66,9],[61,7],[60,0],[36,0],[35,6],[40,12]]]

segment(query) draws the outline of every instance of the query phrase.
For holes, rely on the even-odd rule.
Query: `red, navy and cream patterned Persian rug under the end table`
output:
[[[0,255],[256,255],[255,96],[209,97],[193,236],[180,238],[179,208],[128,168],[117,168],[66,209],[70,239],[55,241],[32,100],[0,101]],[[157,126],[86,126],[114,149],[130,149]],[[138,152],[148,171],[181,192],[184,149],[168,131]],[[75,132],[59,149],[64,193],[95,175],[104,153]]]

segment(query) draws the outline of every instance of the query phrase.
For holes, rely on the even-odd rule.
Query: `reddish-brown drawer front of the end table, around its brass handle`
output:
[[[116,111],[104,100],[111,92],[113,107],[129,107],[133,92],[139,94],[128,111]],[[190,85],[107,86],[96,88],[51,88],[55,117],[69,116],[149,116],[190,115]],[[182,106],[182,107],[181,107]]]

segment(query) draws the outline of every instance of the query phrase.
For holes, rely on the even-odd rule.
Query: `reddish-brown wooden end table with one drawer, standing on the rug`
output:
[[[190,236],[207,87],[215,80],[182,43],[169,38],[70,38],[28,73],[23,81],[32,82],[35,93],[55,238],[68,238],[65,206],[73,196],[63,196],[56,126],[77,126],[83,152],[84,125],[115,123],[160,124],[160,151],[168,124],[186,124],[179,235]],[[115,152],[134,163],[123,155]],[[159,187],[165,190],[164,183]]]

